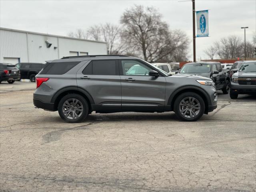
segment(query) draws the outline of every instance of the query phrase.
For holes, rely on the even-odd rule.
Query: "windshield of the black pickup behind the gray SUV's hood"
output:
[[[181,68],[180,73],[208,73],[210,69],[211,66],[209,64],[186,64]]]

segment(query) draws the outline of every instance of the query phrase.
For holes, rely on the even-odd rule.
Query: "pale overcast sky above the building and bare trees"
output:
[[[180,29],[190,38],[192,60],[192,2],[188,0],[0,0],[0,26],[67,36],[77,28],[94,24],[120,24],[124,10],[154,6],[170,29]],[[196,38],[196,58],[209,59],[204,50],[220,38],[237,35],[244,40],[242,26],[248,26],[246,40],[256,32],[256,0],[196,0],[196,11],[209,10],[209,37]]]

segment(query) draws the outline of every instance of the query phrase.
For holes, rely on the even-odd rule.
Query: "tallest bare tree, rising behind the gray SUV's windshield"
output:
[[[130,50],[149,62],[176,55],[188,48],[188,37],[181,31],[169,30],[162,15],[154,7],[135,5],[121,17],[122,37],[128,40]],[[173,57],[174,57],[173,56]]]

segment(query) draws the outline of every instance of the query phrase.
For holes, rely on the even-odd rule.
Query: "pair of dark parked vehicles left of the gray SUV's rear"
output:
[[[0,83],[7,81],[12,84],[20,79],[30,79],[35,82],[35,76],[44,68],[43,63],[0,63]]]

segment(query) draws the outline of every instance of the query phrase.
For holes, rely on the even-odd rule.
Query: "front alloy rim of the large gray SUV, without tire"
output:
[[[200,102],[194,97],[186,97],[181,100],[179,110],[182,116],[186,118],[194,118],[200,113]]]

